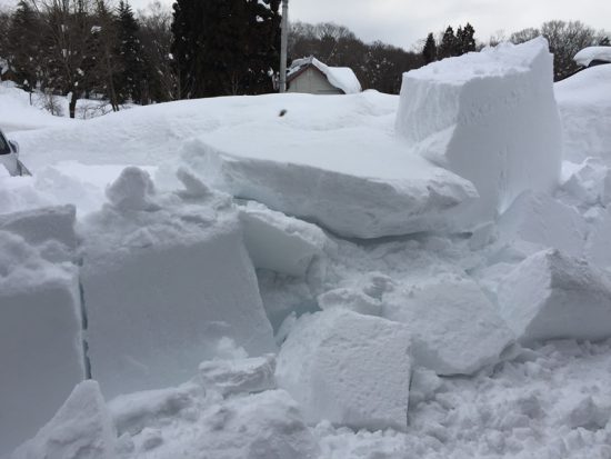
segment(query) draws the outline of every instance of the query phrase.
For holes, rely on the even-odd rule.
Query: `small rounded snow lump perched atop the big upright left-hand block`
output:
[[[106,190],[110,203],[120,210],[152,210],[154,184],[149,172],[137,167],[123,169]]]

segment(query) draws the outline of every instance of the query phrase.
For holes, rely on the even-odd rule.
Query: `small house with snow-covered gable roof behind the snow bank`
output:
[[[293,60],[287,72],[287,92],[352,94],[361,90],[352,69],[325,66],[313,56]]]

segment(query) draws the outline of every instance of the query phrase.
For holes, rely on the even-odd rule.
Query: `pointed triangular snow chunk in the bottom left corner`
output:
[[[117,436],[98,382],[79,383],[37,436],[11,459],[116,459]]]

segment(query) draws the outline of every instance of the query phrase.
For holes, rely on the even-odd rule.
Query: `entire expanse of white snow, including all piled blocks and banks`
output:
[[[0,86],[0,458],[611,458],[611,64],[551,61],[88,120]]]

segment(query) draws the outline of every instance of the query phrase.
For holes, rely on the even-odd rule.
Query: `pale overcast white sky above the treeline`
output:
[[[16,0],[0,0],[9,4]],[[202,0],[206,1],[206,0]],[[150,0],[130,0],[136,8]],[[171,7],[172,0],[161,0]],[[410,49],[428,32],[471,22],[481,41],[551,19],[581,20],[611,29],[611,0],[289,0],[291,20],[337,22],[364,41],[381,40]]]

